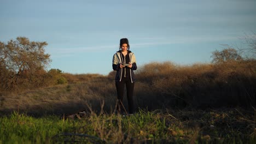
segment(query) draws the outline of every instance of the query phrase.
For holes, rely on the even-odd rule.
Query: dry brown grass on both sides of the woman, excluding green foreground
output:
[[[134,100],[141,109],[255,107],[256,62],[176,65],[171,62],[150,63],[136,71]],[[24,92],[1,93],[1,112],[70,113],[87,109],[114,110],[117,94],[115,71],[109,75],[62,74],[68,84]],[[127,107],[127,100],[124,99]]]

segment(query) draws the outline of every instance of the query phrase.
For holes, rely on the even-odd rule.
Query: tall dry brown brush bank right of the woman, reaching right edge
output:
[[[140,87],[136,85],[136,95],[142,99],[138,105],[251,107],[255,101],[255,71],[255,61],[191,66],[147,64],[137,73]]]

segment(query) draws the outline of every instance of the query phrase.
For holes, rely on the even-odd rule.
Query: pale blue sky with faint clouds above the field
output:
[[[46,41],[48,69],[72,74],[107,75],[121,38],[130,40],[138,68],[210,63],[220,44],[240,45],[255,26],[254,0],[0,1],[0,41]]]

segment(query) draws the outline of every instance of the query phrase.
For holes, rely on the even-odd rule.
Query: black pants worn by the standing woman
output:
[[[123,105],[123,98],[124,98],[124,87],[126,85],[126,92],[127,92],[127,100],[129,106],[129,113],[133,113],[133,89],[134,89],[134,82],[131,82],[131,78],[129,77],[122,77],[121,81],[115,82],[115,87],[117,87],[117,94],[118,94],[118,112],[121,112],[121,109],[124,109]]]

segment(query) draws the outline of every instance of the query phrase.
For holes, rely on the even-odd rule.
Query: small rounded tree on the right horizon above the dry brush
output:
[[[231,62],[231,61],[241,61],[242,57],[237,53],[236,49],[233,48],[226,48],[222,51],[214,51],[212,52],[213,63],[224,63],[224,62]]]

